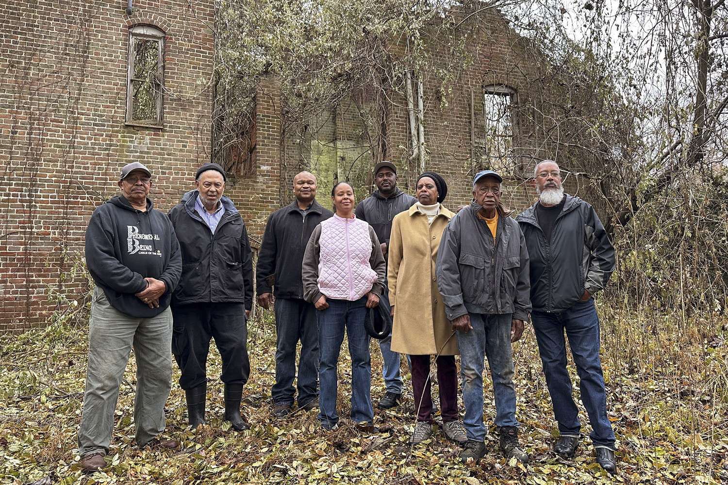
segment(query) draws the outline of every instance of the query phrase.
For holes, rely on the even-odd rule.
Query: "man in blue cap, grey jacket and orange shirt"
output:
[[[475,202],[453,217],[438,250],[435,276],[460,348],[463,420],[462,462],[486,453],[483,364],[487,356],[496,402],[500,449],[526,463],[518,444],[511,343],[521,338],[529,302],[529,253],[521,229],[500,204],[503,179],[483,170],[472,182]]]

